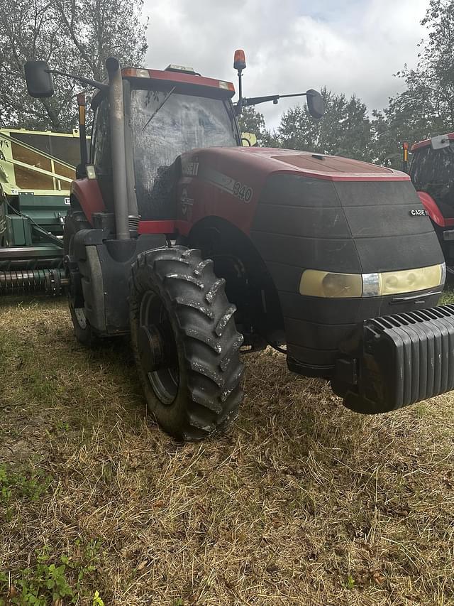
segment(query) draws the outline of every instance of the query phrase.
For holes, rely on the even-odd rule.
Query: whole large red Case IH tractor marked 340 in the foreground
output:
[[[241,83],[243,53],[234,67]],[[82,143],[66,277],[51,286],[66,288],[82,343],[131,335],[165,431],[226,428],[240,352],[267,345],[362,413],[454,389],[454,307],[434,307],[443,254],[408,175],[241,146],[241,107],[279,95],[233,105],[230,82],[190,69],[106,69],[108,83],[77,78],[98,89],[91,152]],[[26,64],[33,97],[53,93],[52,72]],[[320,118],[319,93],[304,94]]]

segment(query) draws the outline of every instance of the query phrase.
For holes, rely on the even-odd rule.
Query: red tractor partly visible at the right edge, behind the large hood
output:
[[[454,274],[454,133],[420,141],[411,152],[410,178]]]

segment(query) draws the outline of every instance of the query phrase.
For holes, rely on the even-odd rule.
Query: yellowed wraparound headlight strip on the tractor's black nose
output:
[[[338,274],[306,269],[301,275],[299,293],[311,297],[380,297],[425,291],[445,281],[445,264],[384,271],[381,274]]]

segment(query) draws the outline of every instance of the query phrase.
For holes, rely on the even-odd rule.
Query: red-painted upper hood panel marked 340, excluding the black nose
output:
[[[187,235],[199,221],[218,217],[248,234],[267,180],[279,175],[295,177],[295,186],[299,177],[411,183],[409,175],[391,168],[338,156],[324,156],[326,159],[322,160],[316,156],[304,151],[260,147],[211,147],[183,153],[177,229]]]

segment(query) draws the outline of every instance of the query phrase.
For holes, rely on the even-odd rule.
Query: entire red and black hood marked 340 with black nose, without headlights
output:
[[[182,156],[177,226],[207,217],[247,234],[275,283],[292,369],[329,374],[341,340],[367,318],[436,305],[440,288],[402,297],[301,292],[306,270],[367,276],[443,264],[409,176],[373,164],[270,148]],[[289,362],[290,365],[290,362]],[[302,370],[301,370],[302,369]],[[326,376],[323,374],[323,376]]]

